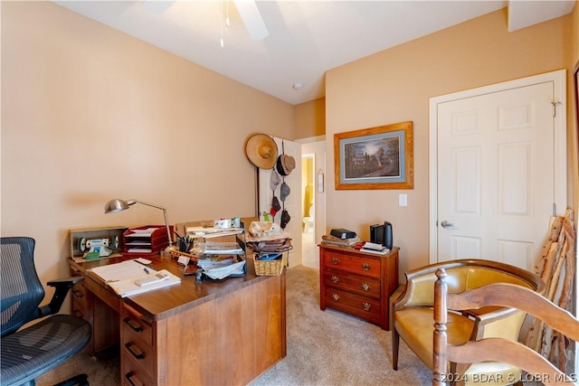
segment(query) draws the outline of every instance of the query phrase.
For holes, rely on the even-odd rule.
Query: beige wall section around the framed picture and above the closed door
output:
[[[501,10],[328,71],[328,167],[334,134],[412,120],[414,189],[336,191],[327,173],[327,229],[352,229],[365,239],[370,224],[390,221],[401,274],[428,264],[429,99],[566,68],[570,34],[569,15],[508,33]],[[407,207],[398,206],[399,193],[408,194]]]

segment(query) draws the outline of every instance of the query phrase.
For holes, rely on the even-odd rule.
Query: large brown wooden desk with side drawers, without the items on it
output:
[[[93,327],[94,353],[120,343],[123,385],[248,384],[286,356],[286,278],[258,277],[252,259],[245,278],[195,285],[170,257],[147,257],[181,284],[118,297],[87,271],[124,259],[76,263],[85,277],[72,291],[72,312]]]

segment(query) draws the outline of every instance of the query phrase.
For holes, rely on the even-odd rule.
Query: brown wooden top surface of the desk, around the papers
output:
[[[108,290],[109,293],[117,295],[114,291],[97,275],[88,271],[90,268],[119,263],[124,260],[136,259],[136,257],[115,257],[109,259],[91,260],[77,263],[69,259],[71,266],[80,268],[86,280],[97,283],[100,287]],[[162,320],[171,315],[183,312],[194,306],[199,306],[215,298],[226,296],[243,287],[252,286],[261,280],[276,279],[280,277],[257,276],[253,267],[253,260],[247,259],[247,276],[242,278],[224,278],[223,280],[212,280],[204,277],[203,284],[195,284],[195,275],[183,274],[184,267],[177,264],[177,260],[171,257],[147,256],[151,260],[150,268],[160,270],[166,269],[181,278],[181,283],[174,286],[161,287],[152,291],[131,297],[124,297],[122,301],[147,316],[150,320]],[[285,270],[282,273],[285,277]]]

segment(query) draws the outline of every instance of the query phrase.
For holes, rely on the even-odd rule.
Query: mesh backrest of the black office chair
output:
[[[34,268],[34,240],[29,237],[0,239],[2,336],[12,334],[36,317],[44,288]]]

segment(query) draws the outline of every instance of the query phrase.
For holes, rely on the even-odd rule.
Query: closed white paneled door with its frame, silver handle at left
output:
[[[561,72],[557,87],[565,90]],[[535,270],[550,218],[559,214],[555,204],[557,212],[565,212],[565,194],[557,197],[558,189],[565,193],[558,170],[565,171],[565,154],[557,154],[560,146],[565,152],[565,108],[554,117],[553,104],[565,93],[557,94],[557,79],[537,76],[431,104],[438,196],[432,262],[493,259]],[[561,127],[557,121],[563,121]],[[563,136],[555,135],[557,130]]]

